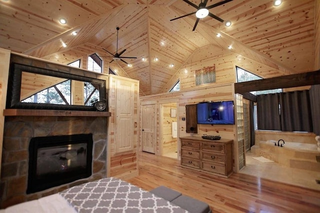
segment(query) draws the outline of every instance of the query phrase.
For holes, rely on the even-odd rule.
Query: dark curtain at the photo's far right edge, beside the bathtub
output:
[[[320,84],[312,85],[309,90],[313,132],[320,135]]]

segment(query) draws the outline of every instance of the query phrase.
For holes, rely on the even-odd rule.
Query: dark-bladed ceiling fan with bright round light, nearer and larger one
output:
[[[223,20],[222,18],[220,18],[220,17],[212,14],[211,12],[209,12],[208,9],[211,9],[211,8],[213,8],[213,7],[219,6],[219,5],[221,5],[221,4],[227,3],[227,2],[232,1],[232,0],[222,0],[222,1],[220,1],[220,2],[217,2],[217,3],[212,4],[212,5],[210,5],[210,6],[206,6],[206,3],[208,2],[208,0],[204,0],[203,2],[202,2],[202,0],[201,0],[201,2],[199,3],[199,5],[196,5],[196,4],[194,4],[194,3],[192,3],[191,1],[188,1],[188,0],[183,0],[183,1],[186,2],[186,3],[188,3],[189,5],[193,6],[193,7],[196,8],[197,10],[194,11],[194,12],[190,12],[190,13],[188,13],[188,14],[182,15],[182,16],[180,16],[180,17],[173,18],[173,19],[171,19],[171,20],[176,20],[176,19],[178,19],[178,18],[182,18],[182,17],[188,16],[188,15],[192,15],[192,14],[195,13],[196,21],[195,21],[195,24],[194,24],[193,29],[192,29],[192,31],[194,31],[196,25],[197,25],[198,22],[199,22],[199,19],[200,19],[200,18],[203,18],[203,17],[205,17],[205,16],[207,16],[207,15],[209,15],[209,16],[212,17],[212,18],[217,19],[218,21],[223,22],[224,20]],[[170,20],[170,21],[171,21],[171,20]]]

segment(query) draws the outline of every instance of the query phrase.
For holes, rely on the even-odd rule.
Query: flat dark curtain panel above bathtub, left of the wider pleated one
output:
[[[279,93],[256,96],[258,129],[281,130],[279,114]]]

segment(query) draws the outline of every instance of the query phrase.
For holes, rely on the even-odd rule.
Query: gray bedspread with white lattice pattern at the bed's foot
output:
[[[78,212],[187,212],[126,181],[109,177],[59,193]]]

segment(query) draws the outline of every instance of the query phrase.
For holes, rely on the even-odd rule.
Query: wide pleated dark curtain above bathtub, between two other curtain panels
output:
[[[279,99],[281,130],[312,132],[309,90],[281,92]]]

